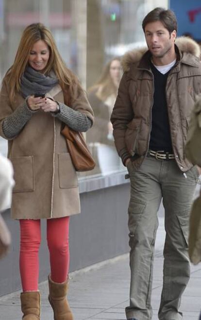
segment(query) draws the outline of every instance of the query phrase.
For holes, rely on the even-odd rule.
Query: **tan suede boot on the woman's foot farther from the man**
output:
[[[20,295],[23,320],[40,320],[40,292],[22,292]]]

